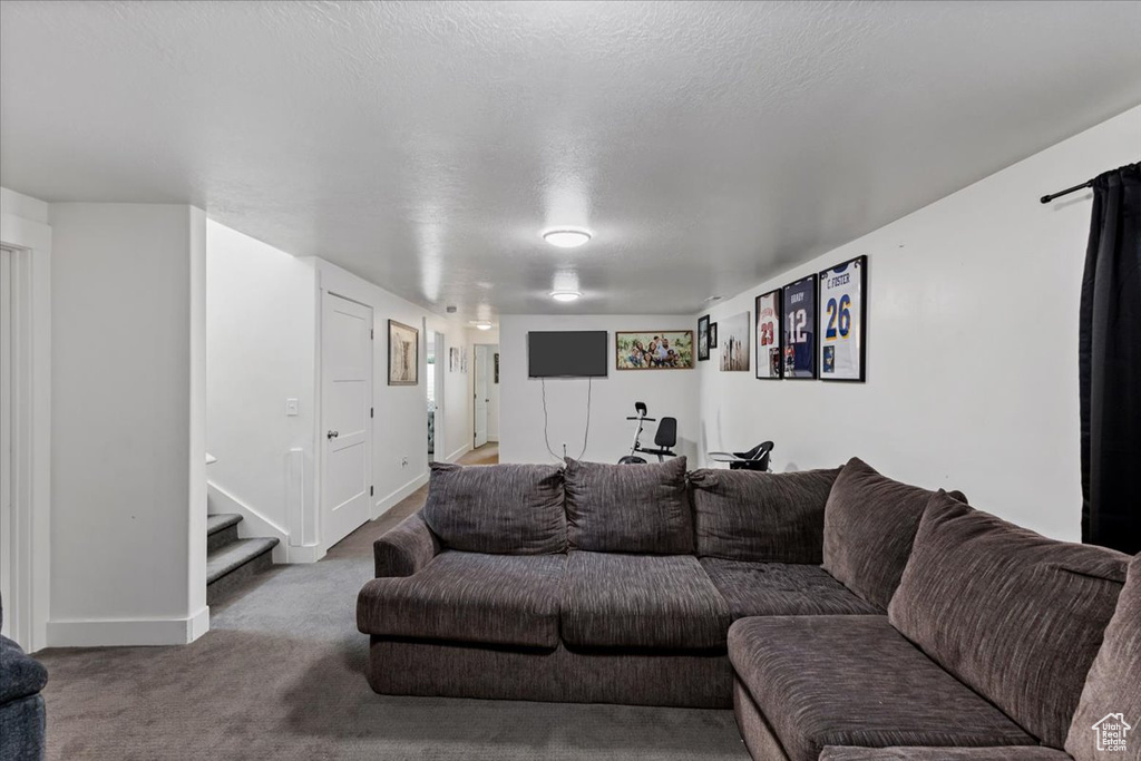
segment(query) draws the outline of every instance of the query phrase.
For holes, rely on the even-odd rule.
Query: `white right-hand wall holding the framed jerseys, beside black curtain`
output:
[[[699,363],[701,451],[772,439],[776,470],[858,455],[1078,540],[1077,331],[1091,193],[1049,205],[1038,197],[1139,153],[1141,107],[719,303],[714,321],[752,313],[760,293],[869,258],[867,382],[760,381]]]

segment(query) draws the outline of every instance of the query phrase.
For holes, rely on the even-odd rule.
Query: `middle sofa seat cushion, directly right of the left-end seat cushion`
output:
[[[729,609],[693,556],[572,551],[561,620],[570,647],[723,649]]]

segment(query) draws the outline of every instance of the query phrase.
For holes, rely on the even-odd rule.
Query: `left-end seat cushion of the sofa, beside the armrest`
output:
[[[445,551],[411,576],[373,578],[357,597],[366,634],[555,648],[565,554]]]

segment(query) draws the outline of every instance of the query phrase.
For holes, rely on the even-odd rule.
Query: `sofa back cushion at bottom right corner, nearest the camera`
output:
[[[1104,721],[1102,721],[1104,720]],[[1118,753],[1098,750],[1100,732],[1112,731],[1107,724],[1127,723],[1126,746],[1138,753],[1141,746],[1141,554],[1130,562],[1128,577],[1117,598],[1117,609],[1106,628],[1106,638],[1085,679],[1082,699],[1074,713],[1066,750],[1077,761],[1097,761]],[[1098,729],[1094,729],[1098,724]],[[1120,737],[1120,735],[1118,735]],[[1102,740],[1109,737],[1102,737]],[[1104,747],[1108,743],[1102,743]],[[1128,756],[1126,756],[1128,758]],[[1132,758],[1141,758],[1133,755]]]

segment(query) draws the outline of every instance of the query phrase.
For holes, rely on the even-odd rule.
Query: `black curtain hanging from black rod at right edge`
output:
[[[1082,541],[1141,552],[1141,163],[1093,180],[1082,278]]]

